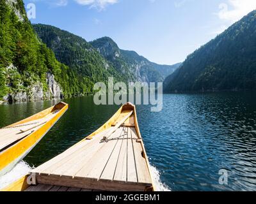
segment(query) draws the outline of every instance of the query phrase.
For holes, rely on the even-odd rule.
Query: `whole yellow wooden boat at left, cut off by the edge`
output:
[[[0,176],[12,170],[67,111],[66,103],[0,129]]]

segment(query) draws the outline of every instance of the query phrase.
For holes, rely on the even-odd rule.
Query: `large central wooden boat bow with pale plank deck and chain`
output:
[[[34,181],[34,185],[29,182]],[[29,182],[28,182],[29,181]],[[92,135],[3,191],[154,191],[136,108],[122,106]]]

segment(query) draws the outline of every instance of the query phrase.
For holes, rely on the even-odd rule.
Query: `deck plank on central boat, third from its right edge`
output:
[[[127,128],[125,128],[124,138],[127,138]],[[122,142],[113,180],[127,182],[127,140]]]

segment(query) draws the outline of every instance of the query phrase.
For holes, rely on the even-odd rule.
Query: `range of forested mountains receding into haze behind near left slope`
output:
[[[134,51],[121,50],[108,37],[88,43],[51,25],[35,24],[33,27],[58,61],[79,75],[90,77],[92,82],[105,82],[109,76],[122,82],[163,82],[178,67],[155,64]]]

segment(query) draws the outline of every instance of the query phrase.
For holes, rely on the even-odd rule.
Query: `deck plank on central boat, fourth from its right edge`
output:
[[[122,130],[122,133],[120,136],[121,136],[122,140],[118,140],[118,142],[116,143],[116,147],[115,147],[113,153],[111,154],[111,157],[109,158],[109,161],[106,164],[106,167],[104,168],[104,171],[102,172],[102,175],[100,176],[100,180],[113,181],[113,179],[114,179],[118,156],[120,154],[122,142],[124,141],[124,136],[125,136],[124,129]]]

